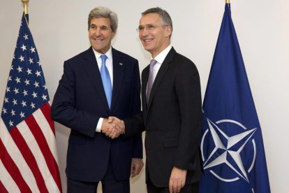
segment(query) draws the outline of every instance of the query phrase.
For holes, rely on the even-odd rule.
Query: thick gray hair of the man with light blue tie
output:
[[[89,13],[89,18],[88,18],[88,29],[90,26],[91,19],[93,18],[99,18],[99,17],[104,17],[108,18],[110,20],[110,27],[112,31],[116,32],[117,31],[117,13],[114,13],[112,10],[109,8],[101,7],[98,6],[94,8],[93,10],[90,11]]]

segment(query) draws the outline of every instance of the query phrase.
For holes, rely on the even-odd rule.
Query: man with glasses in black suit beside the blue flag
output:
[[[142,71],[142,113],[124,120],[125,136],[146,131],[148,192],[198,192],[202,175],[198,70],[170,45],[172,20],[167,11],[144,11],[137,30],[144,49],[151,53],[151,64]],[[123,127],[116,117],[109,119]],[[109,129],[106,134],[119,133]]]

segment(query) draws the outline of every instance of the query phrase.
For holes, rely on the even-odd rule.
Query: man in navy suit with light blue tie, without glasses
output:
[[[138,60],[111,47],[117,15],[97,7],[89,13],[91,47],[64,62],[51,108],[52,119],[71,129],[66,176],[68,192],[127,193],[129,178],[142,169],[141,134],[111,139],[102,131],[140,113]]]

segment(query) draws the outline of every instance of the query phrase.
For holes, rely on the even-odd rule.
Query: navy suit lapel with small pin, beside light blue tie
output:
[[[113,62],[113,85],[112,85],[112,103],[110,105],[110,111],[113,110],[117,103],[117,96],[121,90],[122,80],[124,77],[124,70],[126,64],[121,60],[120,52],[112,48],[112,62]]]

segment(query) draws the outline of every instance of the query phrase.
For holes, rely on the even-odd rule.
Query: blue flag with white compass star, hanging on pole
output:
[[[201,193],[270,192],[258,115],[230,13],[218,35],[202,115]]]

